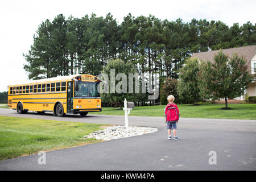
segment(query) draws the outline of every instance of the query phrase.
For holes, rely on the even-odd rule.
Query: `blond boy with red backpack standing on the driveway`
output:
[[[174,140],[178,140],[177,137],[177,122],[179,121],[180,114],[176,104],[174,104],[174,96],[170,95],[167,97],[169,104],[164,108],[164,114],[166,115],[166,126],[168,130],[168,139],[171,140],[171,129],[174,132]]]

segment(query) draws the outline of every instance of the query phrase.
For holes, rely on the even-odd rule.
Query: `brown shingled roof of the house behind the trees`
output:
[[[213,57],[214,55],[217,55],[218,52],[220,52],[220,50],[208,51],[208,52],[196,52],[192,54],[192,57],[196,57],[200,60],[213,62]],[[247,64],[250,64],[251,60],[253,60],[253,57],[255,57],[256,55],[256,45],[222,49],[222,52],[229,57],[232,57],[234,53],[237,53],[238,56],[245,58],[245,60],[247,61]],[[250,65],[249,65],[249,68],[250,68]]]

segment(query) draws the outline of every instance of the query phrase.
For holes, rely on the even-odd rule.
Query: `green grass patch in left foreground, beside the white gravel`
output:
[[[102,126],[0,116],[0,160],[100,142],[82,137]]]

